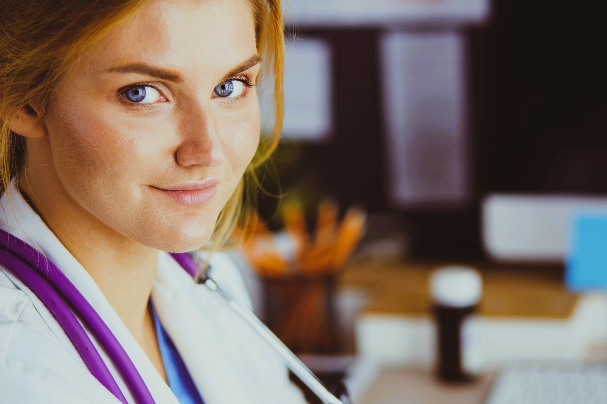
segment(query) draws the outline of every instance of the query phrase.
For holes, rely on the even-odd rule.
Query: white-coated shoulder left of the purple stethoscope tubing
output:
[[[80,357],[56,338],[32,299],[0,267],[0,401],[90,403],[84,390],[96,389],[90,377]],[[115,401],[103,392],[98,397],[99,403]]]

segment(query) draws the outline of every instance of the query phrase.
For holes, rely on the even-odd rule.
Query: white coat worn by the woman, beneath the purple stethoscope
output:
[[[2,195],[0,227],[38,245],[89,301],[118,338],[157,404],[178,404],[173,392],[98,288],[11,183]],[[212,275],[240,303],[251,306],[242,278],[225,254],[211,258]],[[171,256],[160,253],[152,301],[206,404],[300,404],[277,354],[216,292],[195,284]],[[129,403],[117,369],[90,334]],[[0,267],[0,403],[118,404],[93,377],[63,328],[33,292]]]

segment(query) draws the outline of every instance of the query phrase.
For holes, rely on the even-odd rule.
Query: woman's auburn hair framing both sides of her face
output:
[[[25,143],[8,122],[33,112],[30,100],[42,109],[52,103],[53,90],[79,55],[112,29],[132,18],[149,0],[2,0],[0,1],[0,195],[24,166]],[[283,115],[284,28],[280,0],[248,0],[255,19],[257,52],[264,79],[273,90],[273,129],[262,133],[256,155],[234,194],[219,214],[208,244],[223,246],[236,226],[243,206],[257,189],[256,169],[276,148]],[[10,197],[10,194],[7,195]]]

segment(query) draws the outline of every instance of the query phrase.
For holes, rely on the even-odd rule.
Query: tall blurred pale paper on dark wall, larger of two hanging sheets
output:
[[[469,200],[463,52],[463,38],[453,32],[382,38],[389,198],[397,207]]]

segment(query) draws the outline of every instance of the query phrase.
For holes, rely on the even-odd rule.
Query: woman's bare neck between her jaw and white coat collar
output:
[[[148,301],[158,250],[142,246],[102,223],[50,178],[18,179],[25,200],[95,280],[124,325],[141,341],[149,326]]]

